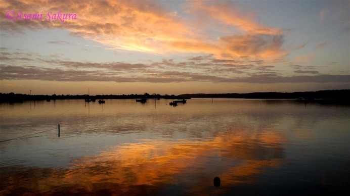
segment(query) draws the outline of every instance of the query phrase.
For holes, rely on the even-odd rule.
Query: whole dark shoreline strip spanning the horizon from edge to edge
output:
[[[295,100],[341,100],[350,102],[350,89],[319,90],[304,92],[251,92],[251,93],[193,93],[180,95],[160,94],[122,94],[122,95],[29,95],[20,93],[0,93],[0,103],[20,103],[42,100],[109,100],[109,99],[191,99],[191,98],[240,98],[240,99],[295,99]]]

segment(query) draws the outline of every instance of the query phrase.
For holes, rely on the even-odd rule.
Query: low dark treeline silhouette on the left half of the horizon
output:
[[[147,92],[144,94],[121,94],[121,95],[113,95],[113,94],[103,94],[103,95],[29,95],[29,94],[19,94],[19,93],[0,93],[0,103],[21,103],[24,101],[43,101],[43,100],[85,100],[85,99],[95,99],[95,100],[109,100],[109,99],[183,99],[181,96],[177,95],[160,95],[160,94],[148,94]]]

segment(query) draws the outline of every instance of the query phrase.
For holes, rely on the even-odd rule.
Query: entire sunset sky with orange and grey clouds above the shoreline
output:
[[[350,1],[0,0],[0,92],[350,89]]]

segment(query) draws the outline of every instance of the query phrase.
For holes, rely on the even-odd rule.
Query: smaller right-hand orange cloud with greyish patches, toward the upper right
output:
[[[288,51],[282,48],[284,32],[278,28],[258,24],[254,21],[251,13],[242,14],[238,7],[229,3],[213,3],[210,1],[191,1],[188,10],[202,20],[228,25],[240,30],[237,34],[227,34],[218,37],[218,49],[213,54],[217,58],[233,59],[242,56],[258,58],[278,58],[288,55]],[[212,28],[212,27],[211,27]],[[223,29],[227,28],[222,27]]]

